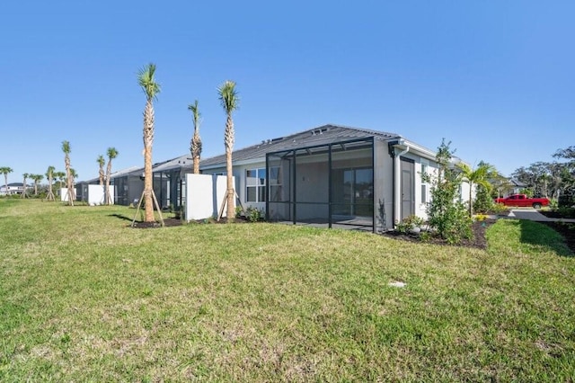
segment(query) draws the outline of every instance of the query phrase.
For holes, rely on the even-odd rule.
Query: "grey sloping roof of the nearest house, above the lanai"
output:
[[[368,137],[382,139],[401,138],[400,135],[395,133],[328,124],[318,128],[301,131],[286,137],[263,140],[260,144],[234,150],[233,158],[234,162],[263,159],[267,153],[297,149],[301,147],[327,145],[335,142]],[[199,166],[208,167],[222,164],[226,164],[226,155],[213,156],[201,160]]]

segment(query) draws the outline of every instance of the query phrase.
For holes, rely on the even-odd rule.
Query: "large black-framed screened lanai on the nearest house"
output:
[[[374,231],[374,138],[266,155],[270,221]]]

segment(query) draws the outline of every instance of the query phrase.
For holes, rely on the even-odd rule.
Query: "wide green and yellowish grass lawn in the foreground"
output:
[[[543,225],[482,251],[134,213],[0,200],[0,380],[575,379],[575,258]]]

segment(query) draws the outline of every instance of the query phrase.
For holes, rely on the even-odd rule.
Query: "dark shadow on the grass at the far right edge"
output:
[[[544,251],[552,251],[565,257],[574,256],[565,237],[553,230],[552,227],[526,219],[519,219],[515,221],[515,224],[519,226],[521,232],[519,240],[522,244],[537,246]]]

